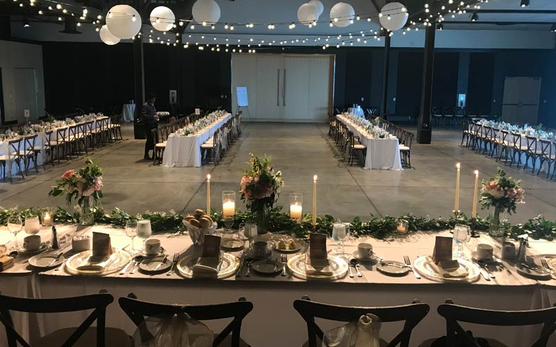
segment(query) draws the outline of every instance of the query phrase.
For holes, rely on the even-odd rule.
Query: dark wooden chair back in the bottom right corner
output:
[[[546,347],[548,337],[556,330],[556,305],[541,310],[528,311],[495,311],[455,305],[448,299],[439,305],[438,312],[446,320],[446,337],[448,346],[455,346],[455,333],[465,341],[466,347],[480,347],[459,322],[496,325],[521,326],[542,324],[541,335],[531,347]]]

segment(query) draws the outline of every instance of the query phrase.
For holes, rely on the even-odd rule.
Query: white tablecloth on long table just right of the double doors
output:
[[[400,158],[400,142],[398,139],[375,139],[353,124],[342,115],[336,117],[347,126],[355,136],[359,136],[361,144],[367,146],[367,156],[364,169],[402,170]]]

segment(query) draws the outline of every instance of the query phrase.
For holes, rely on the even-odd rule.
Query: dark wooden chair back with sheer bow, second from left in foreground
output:
[[[236,303],[222,303],[215,305],[167,305],[139,301],[131,293],[126,298],[118,299],[120,307],[126,312],[131,321],[138,327],[145,321],[145,317],[158,314],[185,313],[197,321],[213,321],[215,319],[229,319],[232,321],[214,338],[213,347],[219,346],[231,334],[231,347],[239,347],[241,323],[251,310],[253,304],[239,298]]]

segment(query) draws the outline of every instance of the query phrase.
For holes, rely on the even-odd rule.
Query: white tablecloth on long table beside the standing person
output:
[[[170,135],[162,160],[163,167],[200,167],[202,163],[201,145],[213,137],[216,129],[231,118],[231,113],[222,116],[202,133],[194,136]],[[224,137],[224,140],[226,137]],[[223,142],[225,142],[223,140]]]

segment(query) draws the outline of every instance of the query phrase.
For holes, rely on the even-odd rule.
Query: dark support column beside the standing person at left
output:
[[[142,13],[142,0],[135,0],[133,4],[139,13]],[[138,123],[140,118],[143,101],[145,100],[145,74],[143,61],[143,42],[142,37],[133,40],[133,76],[135,78],[135,115],[133,115],[133,137],[145,139],[145,124]]]

